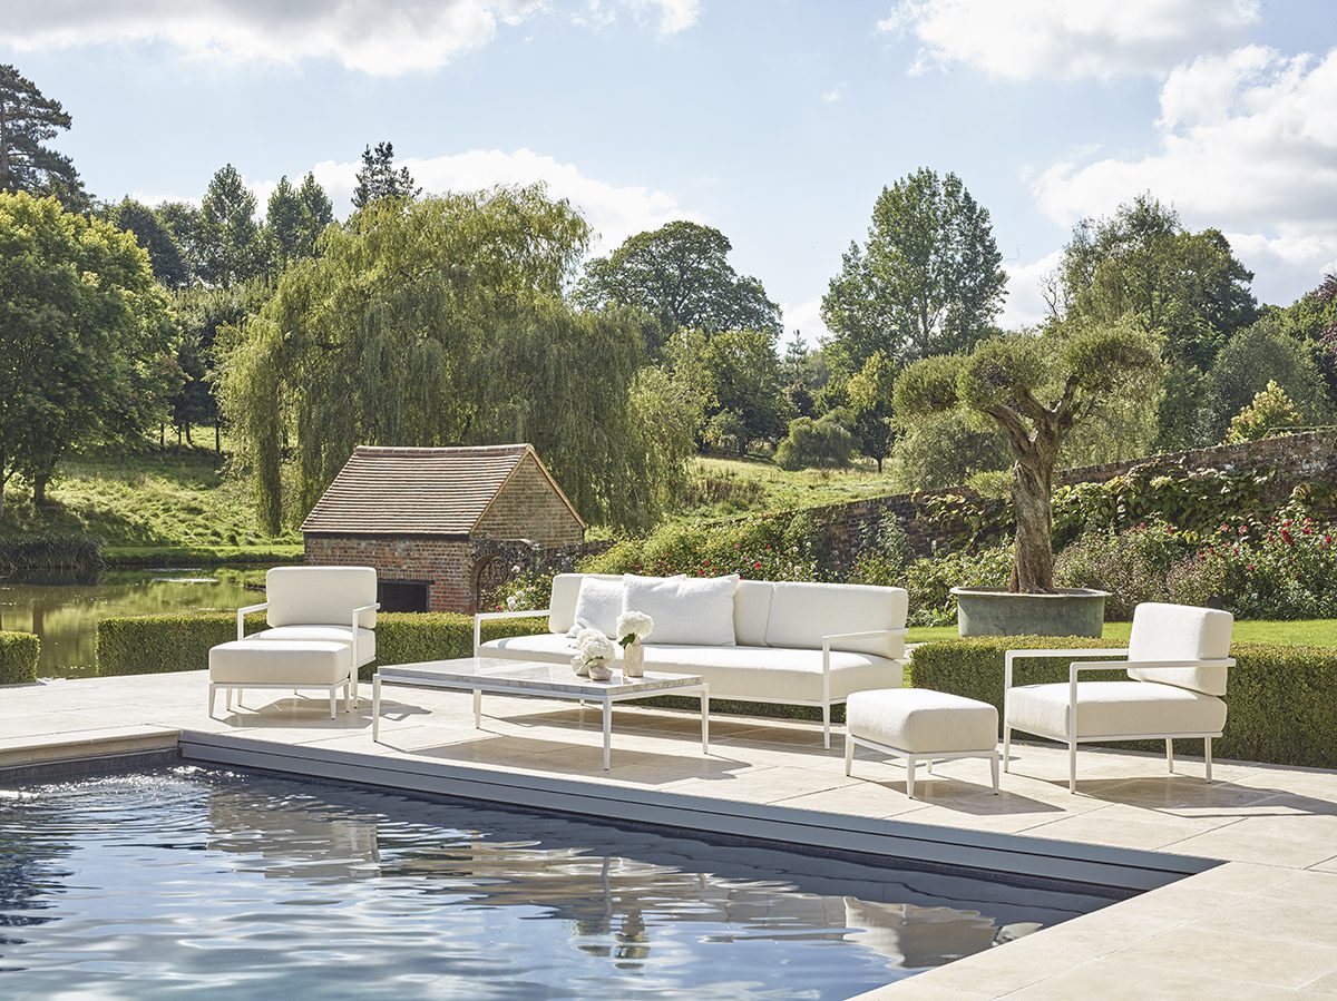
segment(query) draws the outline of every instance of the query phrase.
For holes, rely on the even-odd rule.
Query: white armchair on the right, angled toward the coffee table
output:
[[[1166,742],[1174,771],[1174,739],[1202,739],[1211,782],[1211,740],[1226,724],[1226,676],[1234,616],[1213,608],[1146,603],[1132,616],[1127,650],[1009,650],[1004,662],[1003,770],[1009,770],[1012,731],[1068,746],[1068,790],[1076,793],[1078,744],[1108,740]],[[1115,658],[1074,660],[1068,680],[1012,684],[1020,658]],[[1079,682],[1084,671],[1124,671],[1128,680]]]

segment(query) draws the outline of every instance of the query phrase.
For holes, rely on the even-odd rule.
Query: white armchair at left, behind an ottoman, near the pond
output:
[[[237,639],[344,643],[354,682],[357,668],[376,660],[381,605],[372,567],[274,567],[265,575],[265,599],[237,609]],[[265,612],[270,628],[246,636],[251,612]]]

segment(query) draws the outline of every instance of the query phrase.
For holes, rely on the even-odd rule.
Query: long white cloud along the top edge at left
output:
[[[652,8],[666,35],[691,27],[701,13],[699,0],[618,4]],[[608,9],[615,17],[615,8]],[[31,52],[166,41],[197,57],[334,59],[349,69],[398,76],[443,67],[491,43],[499,27],[540,13],[554,13],[547,0],[48,0],[9,4],[0,45]]]

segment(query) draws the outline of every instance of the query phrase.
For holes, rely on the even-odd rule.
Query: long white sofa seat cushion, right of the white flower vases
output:
[[[691,647],[646,644],[646,670],[701,675],[713,699],[821,702],[822,652],[778,647]],[[832,699],[864,688],[896,688],[901,666],[894,660],[832,651]]]

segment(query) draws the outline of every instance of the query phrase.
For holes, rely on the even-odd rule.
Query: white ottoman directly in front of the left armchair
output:
[[[336,716],[338,690],[344,707],[353,691],[353,652],[346,643],[333,640],[233,640],[209,651],[209,715],[214,715],[214,694],[246,688],[324,688],[330,696],[330,719]],[[241,695],[238,695],[241,699]]]

